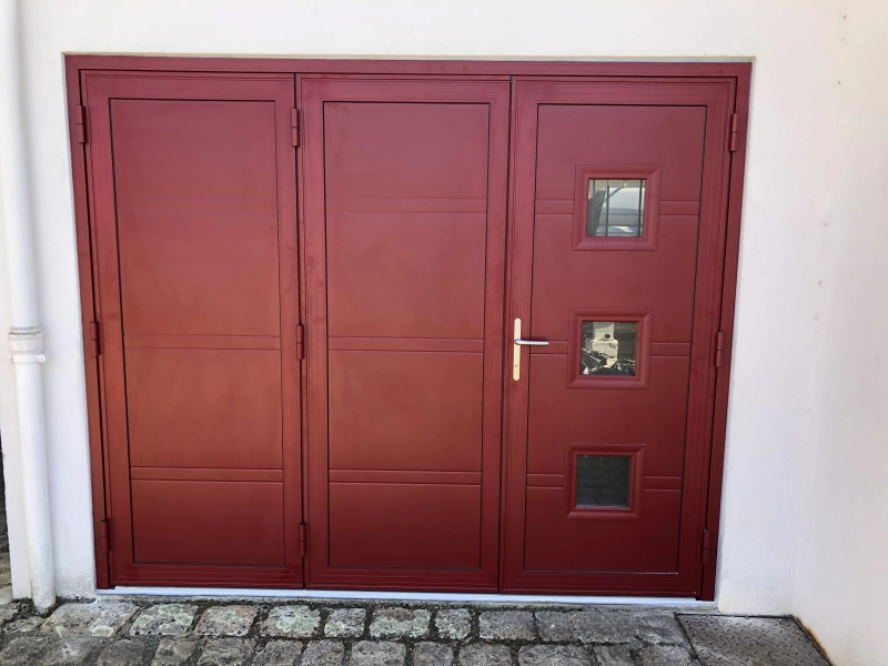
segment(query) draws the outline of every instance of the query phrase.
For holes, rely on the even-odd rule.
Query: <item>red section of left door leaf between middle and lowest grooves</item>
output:
[[[281,353],[128,349],[130,464],[283,464]]]

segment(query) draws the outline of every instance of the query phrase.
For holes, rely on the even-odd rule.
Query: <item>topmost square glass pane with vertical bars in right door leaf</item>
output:
[[[645,183],[644,180],[589,180],[586,235],[642,238]]]

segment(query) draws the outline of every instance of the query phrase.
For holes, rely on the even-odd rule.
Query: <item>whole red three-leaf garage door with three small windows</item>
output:
[[[110,583],[708,595],[731,80],[315,65],[81,75]]]

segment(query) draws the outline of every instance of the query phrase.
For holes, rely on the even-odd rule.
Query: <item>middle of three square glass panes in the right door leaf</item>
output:
[[[583,322],[579,374],[635,375],[638,322]]]

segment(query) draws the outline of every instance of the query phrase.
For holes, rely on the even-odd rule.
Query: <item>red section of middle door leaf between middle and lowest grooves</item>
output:
[[[331,470],[481,471],[482,354],[329,357]]]

